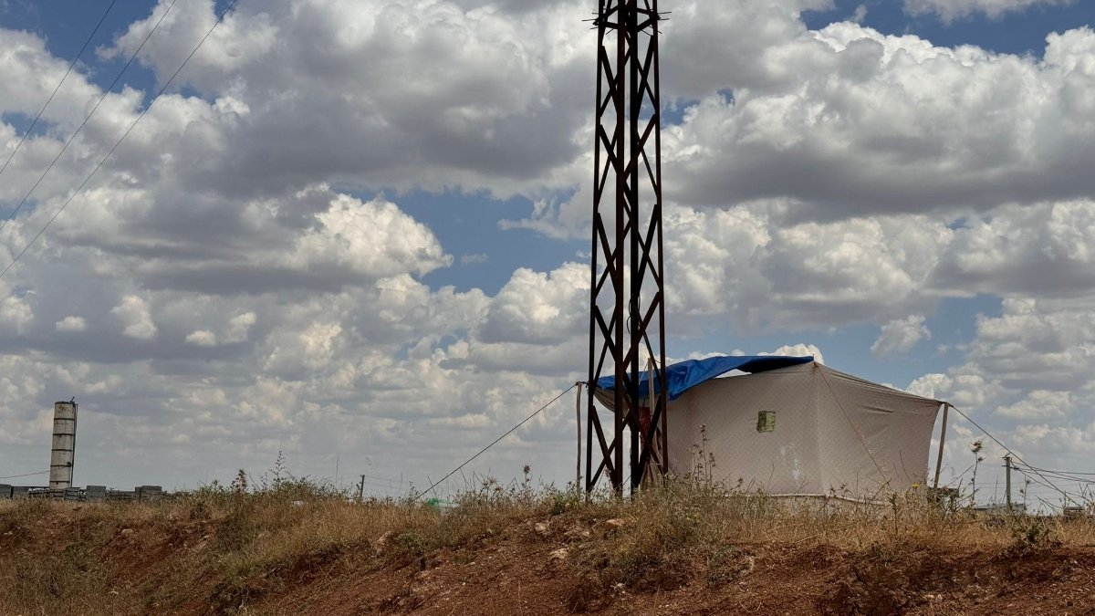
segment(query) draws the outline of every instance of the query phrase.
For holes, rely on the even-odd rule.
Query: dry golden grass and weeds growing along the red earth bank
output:
[[[207,489],[157,505],[0,504],[0,614],[243,612],[350,571],[427,569],[438,554],[499,538],[542,541],[537,522],[555,539],[567,534],[568,567],[584,580],[577,608],[596,607],[621,585],[642,592],[733,580],[751,567],[749,546],[759,544],[853,552],[1095,545],[1091,521],[986,521],[917,492],[885,507],[788,504],[679,483],[585,502],[486,481],[442,513],[414,499],[351,502],[293,481],[257,492]]]

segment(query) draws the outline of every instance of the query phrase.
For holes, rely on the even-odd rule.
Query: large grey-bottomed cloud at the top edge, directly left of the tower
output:
[[[131,53],[168,3],[106,53]],[[176,43],[141,60],[165,79],[214,9],[211,0],[175,7],[158,37]],[[516,13],[428,0],[240,4],[182,78],[250,112],[223,126],[230,152],[193,159],[184,173],[227,192],[333,175],[488,190],[542,178],[578,151],[572,135],[588,106],[579,87],[592,46],[557,33],[587,12],[580,2]]]

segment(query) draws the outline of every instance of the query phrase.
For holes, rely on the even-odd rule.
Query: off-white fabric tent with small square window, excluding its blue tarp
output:
[[[924,484],[944,402],[799,360],[806,363],[691,377],[699,383],[678,383],[678,391],[670,374],[670,471],[682,477],[703,465],[712,479],[746,490],[855,500]],[[611,406],[607,393],[598,398]]]

